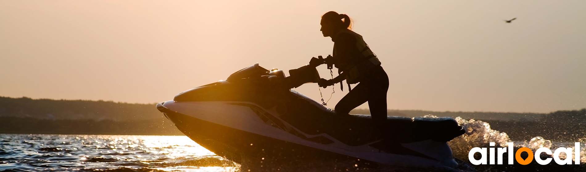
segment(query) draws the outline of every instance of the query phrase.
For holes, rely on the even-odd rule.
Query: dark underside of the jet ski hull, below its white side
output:
[[[344,162],[346,166],[339,168],[345,169],[376,168],[378,165],[368,160],[241,131],[180,113],[165,115],[183,134],[200,146],[239,164],[279,164],[280,167],[294,167],[308,162]]]

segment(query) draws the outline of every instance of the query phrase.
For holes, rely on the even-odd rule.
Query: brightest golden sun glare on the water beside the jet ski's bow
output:
[[[104,136],[108,152],[124,155],[142,150],[150,157],[131,154],[131,159],[161,171],[236,171],[239,164],[217,156],[187,136]],[[96,142],[100,142],[96,140]]]

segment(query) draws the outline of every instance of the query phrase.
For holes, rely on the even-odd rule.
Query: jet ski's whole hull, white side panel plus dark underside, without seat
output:
[[[282,131],[280,128],[266,126],[263,120],[258,117],[258,112],[241,104],[225,102],[179,103],[171,100],[159,103],[157,108],[165,113],[165,116],[193,141],[236,163],[285,164],[286,166],[287,164],[306,164],[308,162],[344,162],[342,164],[347,165],[345,168],[357,166],[373,168],[379,165],[401,167],[458,166],[451,157],[438,160],[434,159],[433,156],[407,149],[410,145],[417,145],[421,142],[407,145],[397,144],[395,152],[398,153],[395,154],[374,149],[370,145],[345,145],[328,135],[318,135],[314,138],[322,137],[325,140],[334,140],[333,143],[323,143],[319,139],[315,141],[300,139],[298,135]],[[233,113],[234,111],[239,111],[239,113]],[[447,152],[444,154],[451,156],[451,149],[445,142],[434,144],[435,146],[428,149],[437,151],[447,148],[445,150]]]

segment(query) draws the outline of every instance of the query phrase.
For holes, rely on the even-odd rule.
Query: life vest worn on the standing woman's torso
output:
[[[380,65],[380,61],[374,52],[370,50],[370,47],[360,34],[352,30],[343,29],[336,33],[336,36],[342,33],[350,34],[356,38],[356,47],[359,53],[336,57],[336,54],[339,53],[336,52],[336,44],[334,43],[332,52],[333,58],[335,59],[334,65],[339,71],[346,73],[346,82],[348,84],[358,83],[366,73],[369,73],[374,67]]]

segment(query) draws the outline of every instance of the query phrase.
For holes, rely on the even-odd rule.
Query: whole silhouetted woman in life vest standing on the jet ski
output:
[[[318,85],[325,88],[342,80],[348,84],[359,83],[336,104],[336,113],[347,115],[368,101],[374,124],[381,129],[387,118],[389,76],[362,36],[349,30],[350,17],[331,11],[322,16],[320,24],[323,37],[331,37],[334,43],[333,57],[326,58],[323,63],[335,65],[341,73],[334,79],[320,79]],[[320,63],[310,62],[314,65]]]

